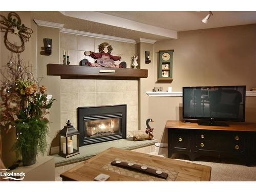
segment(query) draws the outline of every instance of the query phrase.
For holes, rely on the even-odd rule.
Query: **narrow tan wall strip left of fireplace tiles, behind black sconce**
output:
[[[45,55],[42,51],[44,47],[44,38],[52,39],[52,54]],[[57,146],[59,138],[57,133],[63,128],[60,124],[60,77],[47,75],[48,63],[59,63],[59,29],[49,27],[37,27],[37,75],[42,77],[41,85],[47,87],[47,93],[53,95],[56,100],[53,102],[50,109],[49,118],[49,130],[50,134],[47,138],[48,153],[50,146]],[[47,153],[47,154],[48,154]]]

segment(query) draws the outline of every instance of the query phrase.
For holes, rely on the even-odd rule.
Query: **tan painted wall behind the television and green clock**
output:
[[[174,49],[174,80],[155,86],[164,87],[164,91],[172,87],[174,92],[185,86],[246,85],[247,91],[256,87],[255,34],[254,24],[179,32],[178,39],[156,42],[154,73],[157,74],[158,51]],[[147,102],[149,116],[156,121],[154,136],[166,142],[164,125],[166,120],[179,120],[182,97],[149,97]],[[256,122],[255,115],[256,97],[246,97],[246,121]]]

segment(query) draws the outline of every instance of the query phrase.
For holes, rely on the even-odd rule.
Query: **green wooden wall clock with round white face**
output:
[[[173,79],[173,53],[174,53],[174,50],[159,51],[158,80]]]

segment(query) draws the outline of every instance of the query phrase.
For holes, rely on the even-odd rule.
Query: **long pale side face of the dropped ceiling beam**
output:
[[[84,20],[90,20],[91,22],[96,22],[104,25],[111,25],[115,27],[120,27],[124,29],[130,29],[134,31],[139,31],[143,33],[150,33],[154,35],[159,35],[168,38],[178,38],[177,31],[164,29],[161,27],[156,27],[152,25],[147,25],[134,20],[129,20],[113,15],[108,15],[96,11],[60,11],[63,15],[80,18]]]

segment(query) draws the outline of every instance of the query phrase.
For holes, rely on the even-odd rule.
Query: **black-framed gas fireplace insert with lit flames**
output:
[[[79,146],[126,138],[126,104],[77,108]]]

